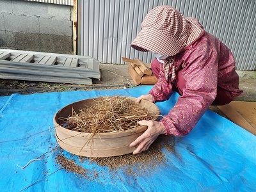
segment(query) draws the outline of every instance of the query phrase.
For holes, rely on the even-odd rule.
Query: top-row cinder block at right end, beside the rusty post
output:
[[[71,20],[71,6],[62,4],[49,4],[47,17],[59,20]]]

